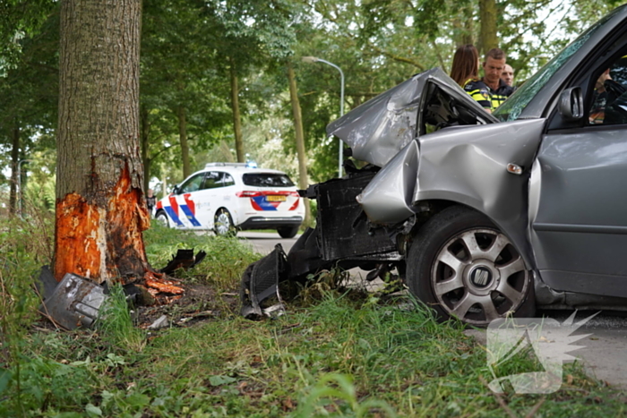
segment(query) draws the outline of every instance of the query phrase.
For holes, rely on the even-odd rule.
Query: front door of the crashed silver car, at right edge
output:
[[[607,69],[624,82],[626,45],[575,77],[583,118],[568,126],[555,113],[532,169],[530,240],[541,277],[557,290],[627,296],[627,107],[608,99],[599,122],[595,104]]]

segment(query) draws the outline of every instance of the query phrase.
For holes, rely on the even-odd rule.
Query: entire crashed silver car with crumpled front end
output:
[[[327,132],[369,165],[303,193],[316,228],[247,270],[242,313],[336,264],[397,269],[442,318],[477,326],[538,305],[627,306],[625,88],[622,6],[493,115],[440,69],[356,107]]]

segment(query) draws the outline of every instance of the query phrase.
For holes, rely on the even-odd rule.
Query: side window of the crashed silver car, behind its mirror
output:
[[[627,55],[597,68],[588,108],[589,124],[627,124]]]

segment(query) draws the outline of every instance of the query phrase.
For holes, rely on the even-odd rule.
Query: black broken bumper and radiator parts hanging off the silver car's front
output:
[[[245,318],[269,315],[268,309],[283,311],[279,295],[282,281],[304,282],[312,274],[338,266],[376,269],[374,277],[404,264],[391,234],[384,228],[372,227],[364,216],[356,196],[374,177],[377,168],[347,170],[348,177],[314,184],[301,196],[316,199],[316,227],[308,228],[294,243],[287,256],[282,247],[245,270],[242,277],[242,310]],[[374,278],[373,277],[373,278]],[[271,306],[267,300],[276,300]]]

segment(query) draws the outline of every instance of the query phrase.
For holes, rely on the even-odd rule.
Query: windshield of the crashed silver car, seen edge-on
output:
[[[532,75],[528,81],[525,81],[525,83],[520,86],[520,89],[516,90],[516,92],[511,95],[511,98],[505,100],[505,102],[494,111],[493,115],[501,122],[518,119],[520,113],[527,107],[531,99],[536,97],[537,92],[545,87],[546,82],[553,77],[553,74],[557,73],[563,67],[563,64],[566,64],[569,58],[586,43],[588,38],[612,16],[614,16],[614,13],[606,15],[605,18],[597,21],[596,24],[582,33],[580,37],[575,39],[568,47],[563,48],[562,52],[555,55],[551,61]]]

